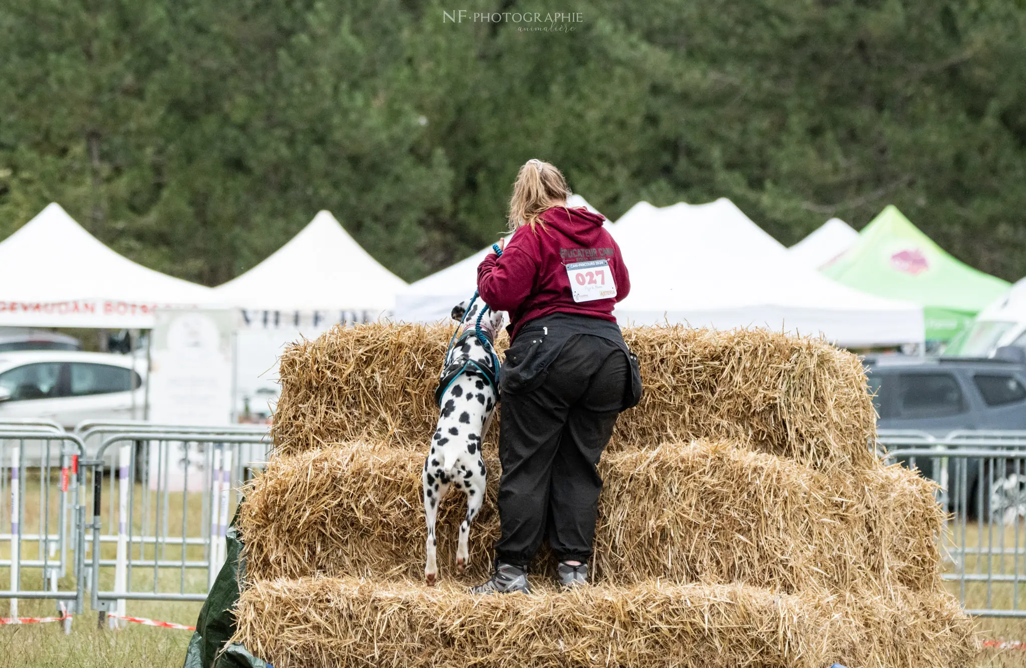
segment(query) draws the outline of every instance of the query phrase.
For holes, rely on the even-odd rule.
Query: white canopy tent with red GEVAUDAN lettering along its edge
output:
[[[119,255],[55,203],[0,243],[0,326],[150,329],[157,307],[211,292]]]

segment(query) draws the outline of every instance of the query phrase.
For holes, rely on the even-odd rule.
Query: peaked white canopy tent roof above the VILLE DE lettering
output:
[[[391,310],[396,293],[405,286],[334,216],[321,211],[273,255],[214,288],[213,294],[220,303],[243,309],[325,310],[334,316],[346,310],[376,320]]]

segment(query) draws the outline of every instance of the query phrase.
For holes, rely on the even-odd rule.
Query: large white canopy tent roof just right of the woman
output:
[[[799,265],[729,200],[677,204],[611,232],[631,273],[616,310],[622,324],[768,327],[849,346],[922,341],[920,306]]]

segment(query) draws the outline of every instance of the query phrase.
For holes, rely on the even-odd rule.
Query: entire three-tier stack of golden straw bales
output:
[[[932,483],[871,454],[859,360],[762,330],[634,328],[645,395],[600,464],[595,585],[472,596],[499,534],[500,467],[451,568],[462,496],[424,568],[421,470],[451,329],[364,325],[282,358],[275,455],[245,492],[235,640],[299,666],[969,666],[941,585]],[[505,347],[500,342],[500,348]]]

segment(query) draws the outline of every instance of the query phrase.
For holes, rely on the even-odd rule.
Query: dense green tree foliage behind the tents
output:
[[[412,280],[538,157],[610,217],[729,197],[786,244],[893,202],[1014,280],[1023,35],[1024,0],[7,0],[0,238],[56,201],[215,285],[329,209]]]

